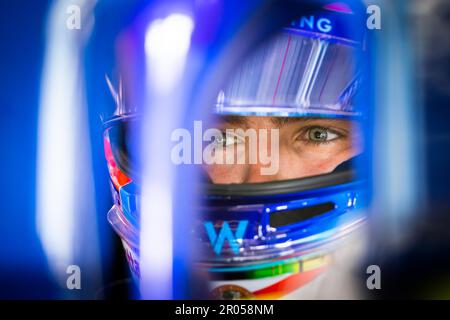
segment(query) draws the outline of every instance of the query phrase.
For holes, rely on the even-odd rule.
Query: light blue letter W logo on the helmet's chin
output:
[[[222,224],[219,235],[217,235],[214,224],[211,221],[205,222],[204,225],[206,233],[208,234],[209,241],[211,242],[213,250],[217,255],[220,255],[220,253],[222,252],[225,240],[228,240],[228,244],[230,245],[230,248],[234,254],[239,253],[240,243],[248,225],[247,220],[239,221],[235,234],[233,234],[233,232],[231,231],[228,222],[224,222]]]

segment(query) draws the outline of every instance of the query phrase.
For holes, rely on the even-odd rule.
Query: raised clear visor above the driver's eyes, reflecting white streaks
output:
[[[361,51],[351,40],[285,29],[237,69],[218,95],[216,113],[358,116]]]

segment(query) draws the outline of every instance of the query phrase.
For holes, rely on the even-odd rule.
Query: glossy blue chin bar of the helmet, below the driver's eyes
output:
[[[354,162],[352,158],[331,173],[301,179],[203,185],[207,192],[196,232],[204,266],[230,271],[331,252],[336,240],[365,220],[355,210],[364,203],[364,181],[357,177]],[[240,240],[217,244],[221,233]]]

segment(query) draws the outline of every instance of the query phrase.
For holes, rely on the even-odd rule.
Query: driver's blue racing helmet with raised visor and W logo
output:
[[[217,93],[220,116],[314,117],[364,121],[364,29],[361,13],[329,3],[300,16],[258,46]],[[122,84],[106,79],[118,107]],[[104,122],[114,206],[108,220],[140,277],[141,203],[137,110],[118,108]],[[330,265],[341,240],[365,221],[366,184],[355,158],[333,172],[263,183],[198,186],[196,267],[218,299],[296,298]]]

